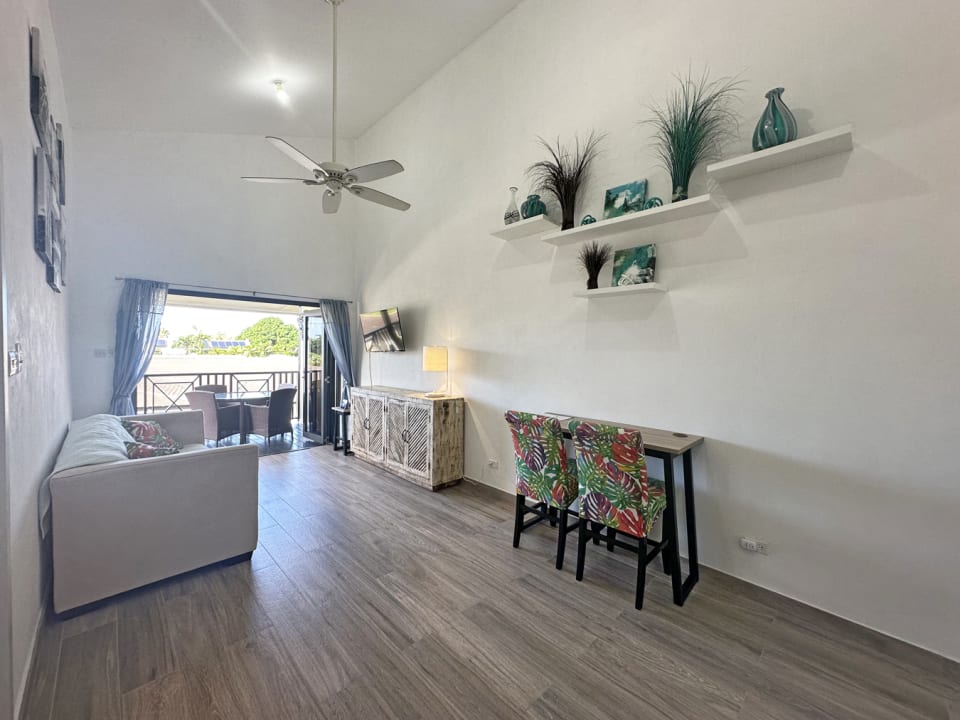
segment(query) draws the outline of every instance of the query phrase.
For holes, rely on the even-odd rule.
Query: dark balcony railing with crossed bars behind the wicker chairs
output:
[[[311,386],[323,378],[320,370],[309,373]],[[173,412],[188,410],[187,393],[198,385],[224,385],[227,392],[269,393],[280,385],[296,385],[300,388],[300,372],[277,370],[261,372],[200,372],[200,373],[154,373],[145,375],[133,394],[133,405],[138,413]],[[302,395],[302,392],[300,393]],[[293,417],[299,414],[294,403]]]

